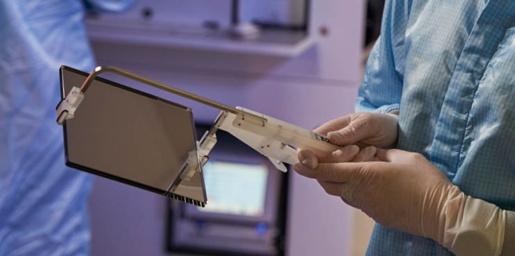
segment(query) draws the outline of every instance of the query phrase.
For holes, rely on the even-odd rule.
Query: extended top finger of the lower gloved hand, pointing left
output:
[[[310,169],[301,163],[296,163],[293,169],[296,173],[324,182],[348,182],[351,175],[364,168],[367,163],[319,163],[317,168]]]

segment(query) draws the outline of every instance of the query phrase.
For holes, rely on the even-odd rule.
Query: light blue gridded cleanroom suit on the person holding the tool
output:
[[[388,0],[356,111],[399,109],[401,150],[515,210],[515,1]],[[376,225],[367,255],[452,255]]]

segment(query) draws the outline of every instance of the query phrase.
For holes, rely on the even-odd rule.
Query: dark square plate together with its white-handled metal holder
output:
[[[196,142],[191,109],[97,77],[104,72],[213,106],[221,113]],[[79,84],[80,88],[74,86]],[[95,89],[90,89],[91,99],[86,100],[89,88]],[[294,147],[315,153],[339,148],[308,129],[232,108],[118,67],[96,67],[88,75],[63,66],[61,96],[66,90],[69,93],[58,104],[56,114],[58,124],[63,125],[68,166],[202,207],[207,202],[202,166],[216,144],[218,129],[264,154],[283,172],[287,171],[283,162],[298,163]],[[86,105],[84,110],[79,104]],[[74,118],[77,110],[82,112],[80,118]],[[70,124],[68,120],[72,120]]]

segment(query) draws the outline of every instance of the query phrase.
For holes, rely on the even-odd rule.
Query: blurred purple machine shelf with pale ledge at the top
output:
[[[309,6],[307,0],[147,0],[123,15],[89,15],[86,27],[93,44],[293,57],[315,45],[308,35]]]

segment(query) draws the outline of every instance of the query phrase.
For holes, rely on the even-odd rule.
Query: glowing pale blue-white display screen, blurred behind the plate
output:
[[[262,216],[267,195],[264,164],[209,160],[203,168],[207,205],[198,208],[219,214]]]

